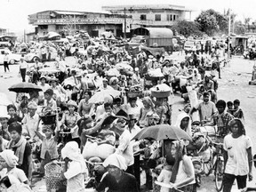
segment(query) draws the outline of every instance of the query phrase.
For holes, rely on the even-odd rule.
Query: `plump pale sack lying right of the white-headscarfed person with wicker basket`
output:
[[[88,160],[93,156],[99,156],[101,159],[106,159],[111,154],[115,153],[116,148],[109,144],[101,144],[98,145],[97,142],[92,142],[87,140],[84,150],[83,156],[84,159]]]

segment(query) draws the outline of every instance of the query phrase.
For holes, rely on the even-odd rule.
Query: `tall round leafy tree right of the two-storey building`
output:
[[[209,36],[217,32],[227,33],[228,31],[228,18],[212,9],[201,12],[196,18],[196,22],[200,24],[201,31]]]

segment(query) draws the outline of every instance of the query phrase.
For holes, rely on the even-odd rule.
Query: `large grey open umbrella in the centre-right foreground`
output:
[[[142,129],[132,140],[152,138],[154,140],[191,140],[187,132],[170,124],[157,124]]]

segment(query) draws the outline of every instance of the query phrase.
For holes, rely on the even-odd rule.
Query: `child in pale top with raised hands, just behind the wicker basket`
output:
[[[42,135],[41,132],[36,130],[36,135],[42,140],[42,148],[41,148],[41,176],[44,176],[44,165],[50,163],[52,160],[58,158],[57,144],[59,139],[59,129],[58,126],[56,128],[56,134],[53,136],[55,126],[54,124],[44,124],[43,132],[45,134]]]

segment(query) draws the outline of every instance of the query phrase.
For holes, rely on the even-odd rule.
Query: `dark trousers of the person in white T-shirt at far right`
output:
[[[237,181],[238,189],[246,187],[247,175],[243,175],[243,176],[237,175],[236,176],[236,175],[225,173],[224,178],[223,178],[223,192],[231,191],[231,188],[233,186],[235,179]]]

